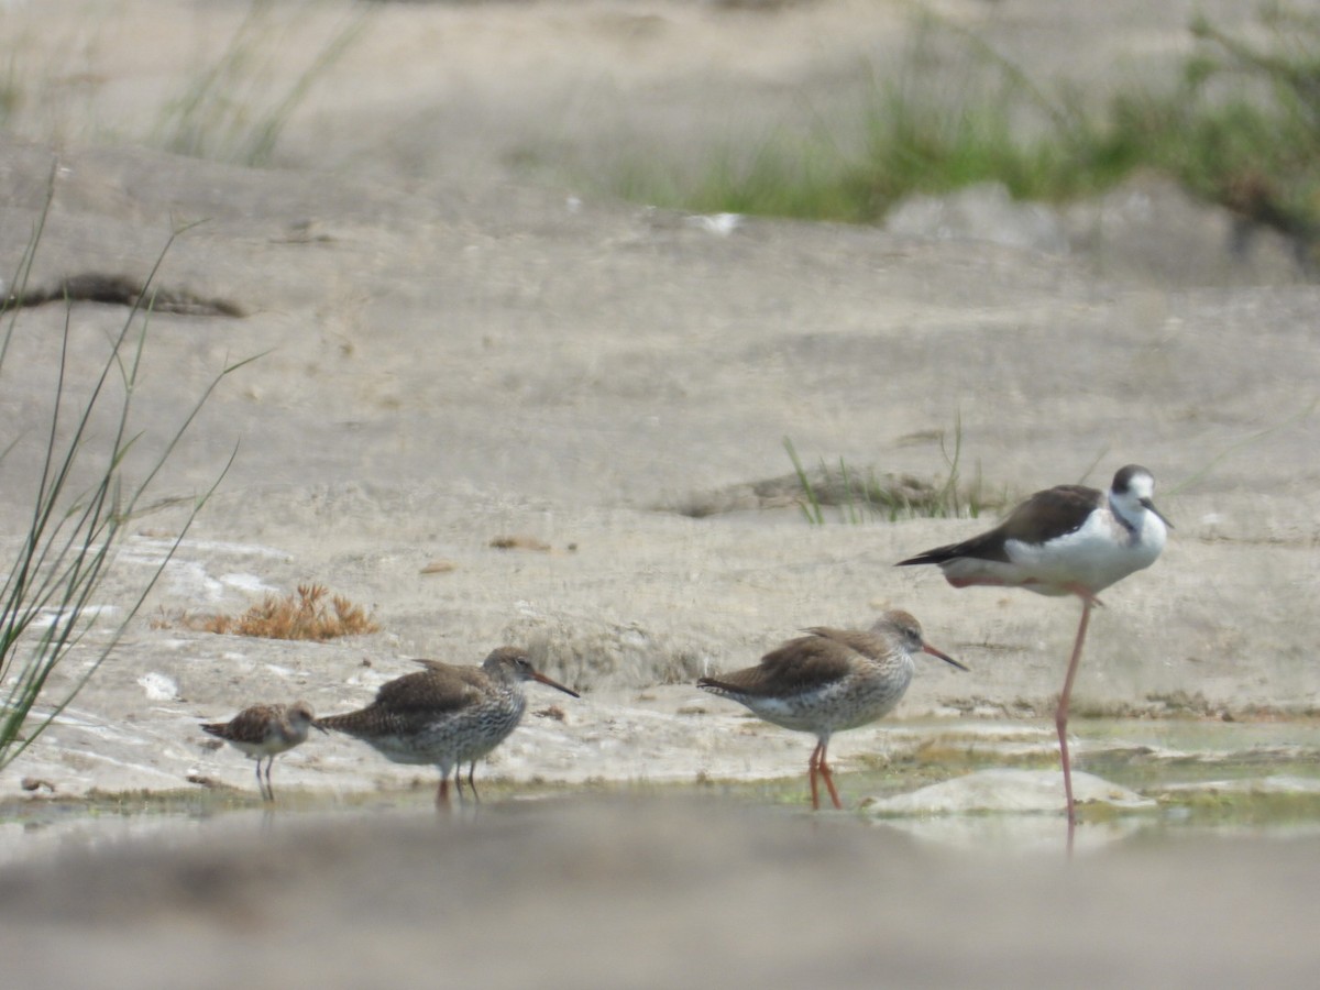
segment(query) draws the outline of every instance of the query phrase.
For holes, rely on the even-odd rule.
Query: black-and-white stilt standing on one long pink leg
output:
[[[1038,491],[994,529],[936,546],[895,566],[935,564],[954,587],[1023,587],[1041,595],[1077,595],[1081,622],[1059,694],[1055,725],[1064,770],[1069,840],[1077,824],[1068,756],[1068,702],[1097,597],[1159,557],[1173,524],[1155,508],[1155,477],[1139,465],[1114,474],[1109,491],[1059,484]]]

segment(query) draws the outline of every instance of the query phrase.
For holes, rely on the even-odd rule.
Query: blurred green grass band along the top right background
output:
[[[1266,4],[1257,40],[1203,15],[1173,82],[1043,87],[985,41],[927,17],[857,115],[781,127],[684,165],[624,162],[612,189],[656,206],[874,223],[903,198],[978,182],[1065,202],[1138,169],[1320,242],[1320,15]]]

